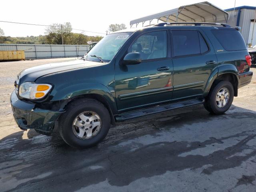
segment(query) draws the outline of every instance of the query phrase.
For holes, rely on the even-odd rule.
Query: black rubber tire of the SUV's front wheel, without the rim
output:
[[[94,112],[97,117],[99,117],[100,129],[96,133],[95,136],[91,134],[91,138],[87,137],[87,132],[84,133],[83,138],[78,136],[78,132],[80,133],[80,129],[77,126],[74,126],[74,122],[81,122],[79,115],[84,114],[89,116],[92,113],[84,113],[84,112]],[[98,121],[94,120],[94,121]],[[85,128],[90,130],[90,124],[92,122],[85,122]],[[95,122],[93,122],[95,123]],[[80,123],[81,124],[81,123]],[[89,127],[90,126],[90,127]],[[85,130],[85,128],[83,130]],[[96,126],[99,128],[99,126]],[[95,128],[95,129],[96,129]],[[70,146],[74,148],[88,148],[98,144],[101,140],[103,140],[108,134],[108,130],[110,128],[110,114],[108,109],[100,102],[93,99],[79,99],[70,104],[66,108],[66,112],[60,116],[59,119],[59,132],[62,139]],[[76,132],[78,130],[78,132]],[[95,130],[94,130],[95,131]],[[91,131],[92,132],[92,131]],[[82,131],[81,131],[82,134]]]

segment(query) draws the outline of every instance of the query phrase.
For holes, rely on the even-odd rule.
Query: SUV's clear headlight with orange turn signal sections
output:
[[[19,95],[27,99],[41,99],[46,96],[51,88],[52,86],[49,84],[25,82],[20,85]]]

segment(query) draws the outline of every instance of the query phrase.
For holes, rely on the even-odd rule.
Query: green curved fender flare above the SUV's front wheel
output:
[[[116,99],[113,97],[110,90],[100,83],[80,83],[56,90],[51,93],[51,101],[66,100],[85,94],[98,94],[99,96],[102,96],[108,102],[112,112],[114,114],[117,113]]]

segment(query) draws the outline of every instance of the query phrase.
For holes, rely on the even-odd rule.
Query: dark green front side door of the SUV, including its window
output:
[[[115,66],[116,102],[119,112],[172,100],[172,60],[166,30],[140,35],[127,53],[139,52],[140,64]]]

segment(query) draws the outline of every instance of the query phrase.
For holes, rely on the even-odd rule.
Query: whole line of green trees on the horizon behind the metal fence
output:
[[[125,24],[111,24],[108,31],[114,32],[117,30],[126,29]],[[26,37],[11,37],[4,36],[4,31],[0,28],[0,43],[14,44],[88,44],[87,42],[98,42],[102,36],[88,36],[81,33],[72,32],[70,22],[65,24],[54,23],[45,29],[45,35],[26,36]]]

